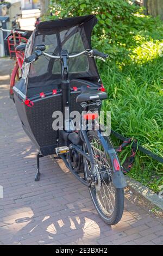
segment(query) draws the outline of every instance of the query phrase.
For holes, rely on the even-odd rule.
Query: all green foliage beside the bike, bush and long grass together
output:
[[[92,46],[110,56],[105,65],[97,64],[108,90],[103,109],[111,111],[112,129],[163,157],[163,57],[159,57],[163,23],[159,17],[143,15],[127,0],[56,0],[50,9],[54,15],[47,19],[96,14]],[[115,145],[121,143],[113,139]],[[122,151],[122,162],[129,150]],[[158,191],[162,173],[162,164],[136,154],[130,171],[135,179]]]

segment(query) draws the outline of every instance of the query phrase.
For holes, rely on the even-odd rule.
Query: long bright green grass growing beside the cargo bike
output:
[[[151,39],[134,48],[129,64],[112,64],[101,70],[108,91],[104,111],[111,111],[111,127],[142,147],[163,157],[163,57],[162,41]],[[122,142],[114,139],[115,145]],[[130,147],[120,154],[129,156]],[[163,165],[137,151],[129,175],[155,192],[163,184]]]

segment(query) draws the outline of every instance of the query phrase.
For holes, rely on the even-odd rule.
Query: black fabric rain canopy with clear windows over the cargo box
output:
[[[25,57],[33,54],[39,44],[45,44],[45,52],[53,55],[60,55],[61,50],[75,54],[91,48],[91,33],[96,22],[95,15],[41,22],[30,38]],[[86,54],[69,59],[68,71],[70,80],[79,78],[98,83],[100,78],[94,58]],[[60,88],[60,60],[41,56],[36,62],[25,64],[23,74],[27,97]]]

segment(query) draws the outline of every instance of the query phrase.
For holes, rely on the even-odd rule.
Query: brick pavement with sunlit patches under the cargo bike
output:
[[[43,157],[34,182],[36,150],[9,99],[11,60],[0,59],[0,67],[0,245],[162,245],[162,220],[128,192],[121,222],[110,227],[61,160]]]

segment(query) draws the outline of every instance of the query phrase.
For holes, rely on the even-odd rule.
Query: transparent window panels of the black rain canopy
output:
[[[68,54],[76,54],[90,48],[89,40],[85,34],[84,26],[62,27],[53,30],[41,31],[36,34],[35,46],[44,44],[46,52],[52,55],[60,55],[61,50],[67,50]],[[95,60],[83,54],[82,56],[68,59],[68,73],[70,80],[74,78],[98,81],[99,75]],[[40,92],[60,88],[61,62],[60,60],[39,57],[36,62],[30,64],[27,96],[31,97]]]

